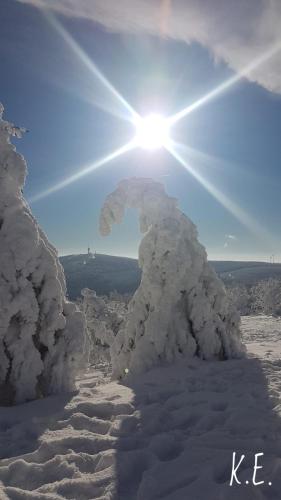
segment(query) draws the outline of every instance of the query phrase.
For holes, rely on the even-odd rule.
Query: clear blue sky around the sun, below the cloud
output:
[[[39,10],[14,0],[2,0],[0,9],[0,101],[6,119],[29,129],[16,145],[28,163],[25,196],[31,199],[122,146],[134,129],[116,116],[124,114],[121,104]],[[89,19],[56,15],[142,114],[173,114],[235,74],[200,40],[112,32]],[[178,198],[209,258],[269,260],[274,253],[281,261],[281,98],[267,82],[262,86],[260,74],[261,85],[242,80],[173,129],[175,139],[192,148],[193,168],[248,218],[238,220],[166,151],[138,149],[32,204],[59,252],[84,253],[89,244],[97,252],[136,256],[136,214],[128,213],[107,238],[99,236],[98,215],[119,180],[150,176]]]

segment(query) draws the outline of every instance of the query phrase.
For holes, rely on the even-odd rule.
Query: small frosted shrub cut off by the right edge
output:
[[[281,281],[270,278],[259,282],[251,289],[252,312],[281,316]]]

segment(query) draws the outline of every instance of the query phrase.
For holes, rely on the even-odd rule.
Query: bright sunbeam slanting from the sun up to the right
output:
[[[190,104],[186,108],[182,109],[178,113],[175,113],[174,115],[170,116],[169,121],[171,125],[174,125],[176,122],[187,116],[189,113],[194,111],[195,109],[201,107],[203,104],[206,102],[210,101],[211,99],[217,97],[219,94],[227,90],[229,87],[237,83],[239,80],[242,78],[246,77],[251,73],[251,71],[255,70],[258,66],[266,62],[268,59],[273,57],[277,52],[281,50],[281,43],[278,42],[277,44],[274,44],[267,52],[262,54],[260,57],[252,61],[248,66],[246,66],[244,69],[239,71],[239,73],[236,73],[233,75],[231,78],[228,80],[224,81],[221,83],[218,87],[214,88],[210,92],[208,92],[206,95],[195,101],[194,103]]]

